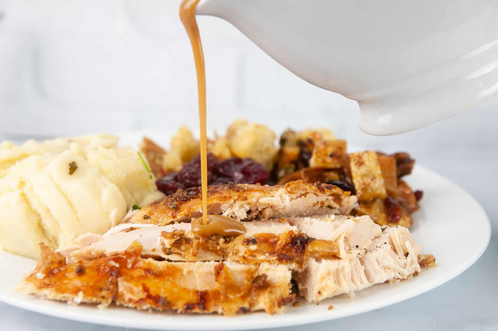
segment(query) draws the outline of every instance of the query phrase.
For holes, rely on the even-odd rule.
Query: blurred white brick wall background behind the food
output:
[[[192,50],[178,4],[0,0],[1,134],[197,128]],[[498,97],[422,130],[372,137],[358,129],[356,102],[295,77],[228,22],[198,20],[208,127],[224,128],[243,117],[275,130],[326,126],[354,144],[496,144]]]

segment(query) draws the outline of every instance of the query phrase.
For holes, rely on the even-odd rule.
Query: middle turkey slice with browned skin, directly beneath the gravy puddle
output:
[[[128,225],[121,231],[110,230],[114,233],[106,233],[88,245],[63,248],[60,252],[68,261],[85,261],[121,255],[137,242],[141,245],[141,257],[189,262],[225,259],[245,264],[283,264],[292,270],[302,270],[307,258],[335,258],[344,246],[339,240],[317,240],[300,233],[284,218],[245,222],[245,235],[209,238],[193,234],[189,223],[139,228],[133,227],[136,224]]]

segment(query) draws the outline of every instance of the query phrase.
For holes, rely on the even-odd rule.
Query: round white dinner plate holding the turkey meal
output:
[[[148,133],[167,139],[171,132]],[[142,133],[123,135],[126,144],[136,145]],[[164,140],[162,140],[164,141]],[[438,266],[394,284],[381,284],[360,291],[354,298],[340,296],[316,304],[288,306],[280,315],[251,313],[225,318],[218,315],[179,315],[138,312],[90,305],[70,306],[24,296],[13,290],[35,261],[3,252],[0,259],[0,301],[30,311],[87,323],[153,330],[244,330],[277,328],[333,320],[382,308],[434,289],[469,268],[484,252],[491,237],[489,219],[479,203],[463,189],[417,165],[407,181],[424,190],[421,208],[410,229],[423,253],[436,256]],[[2,252],[0,251],[0,254]],[[333,310],[328,310],[333,305]]]

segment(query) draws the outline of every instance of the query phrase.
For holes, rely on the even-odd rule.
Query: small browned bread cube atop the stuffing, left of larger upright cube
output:
[[[345,140],[317,142],[310,159],[311,167],[340,168],[346,159]]]

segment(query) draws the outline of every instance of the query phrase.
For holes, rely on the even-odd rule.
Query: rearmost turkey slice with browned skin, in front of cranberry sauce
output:
[[[208,213],[237,220],[325,214],[349,214],[357,198],[341,188],[302,180],[283,186],[235,184],[208,186]],[[133,223],[167,225],[202,215],[200,187],[168,195],[150,203],[131,218]]]

